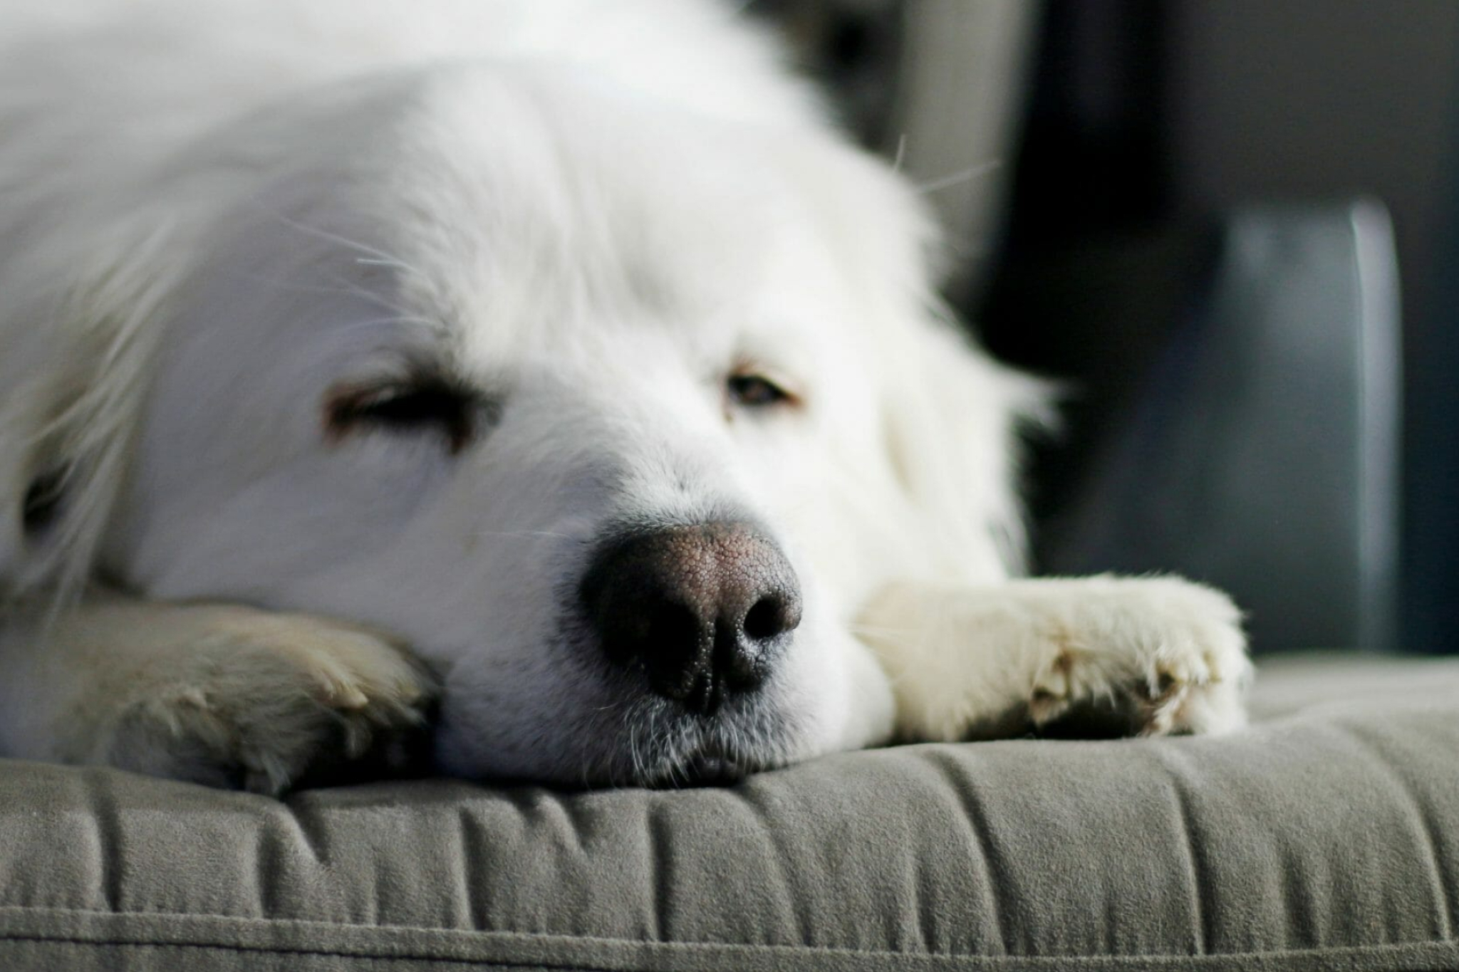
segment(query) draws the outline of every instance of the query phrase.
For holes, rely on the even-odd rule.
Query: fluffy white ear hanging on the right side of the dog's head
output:
[[[929,577],[986,583],[1024,567],[1024,437],[1053,421],[1053,386],[989,358],[941,315],[890,361],[886,439]]]

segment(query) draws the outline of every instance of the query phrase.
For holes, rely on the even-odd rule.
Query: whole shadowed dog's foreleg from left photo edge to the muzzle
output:
[[[400,646],[306,615],[98,590],[0,631],[7,756],[280,793],[362,758],[397,768],[430,694]]]

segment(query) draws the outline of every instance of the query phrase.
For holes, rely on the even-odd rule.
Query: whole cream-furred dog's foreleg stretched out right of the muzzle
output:
[[[893,584],[859,628],[909,739],[1018,734],[1081,717],[1100,733],[1139,734],[1246,721],[1240,612],[1179,577]]]

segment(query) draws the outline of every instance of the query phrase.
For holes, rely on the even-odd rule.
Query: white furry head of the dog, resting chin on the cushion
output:
[[[239,122],[169,179],[206,216],[120,274],[171,261],[124,299],[134,427],[29,462],[76,493],[29,546],[403,635],[448,769],[657,781],[884,737],[858,603],[1017,545],[1029,388],[937,325],[913,194],[814,127],[452,67]]]

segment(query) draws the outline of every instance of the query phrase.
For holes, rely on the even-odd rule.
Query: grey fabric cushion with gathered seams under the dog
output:
[[[0,968],[1459,968],[1459,662],[1274,663],[1255,705],[680,793],[0,762]]]

